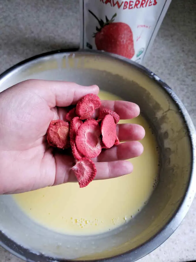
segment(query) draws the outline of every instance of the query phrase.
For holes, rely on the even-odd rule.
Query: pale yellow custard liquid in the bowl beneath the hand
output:
[[[103,91],[99,97],[122,100]],[[85,188],[67,183],[14,195],[22,211],[35,222],[65,234],[99,234],[127,223],[145,205],[157,184],[159,155],[155,137],[142,116],[120,120],[125,122],[142,125],[146,131],[141,141],[144,153],[129,160],[133,173],[93,181]]]

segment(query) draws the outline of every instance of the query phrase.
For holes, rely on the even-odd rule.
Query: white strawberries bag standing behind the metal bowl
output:
[[[141,63],[171,0],[80,0],[82,49],[97,49]]]

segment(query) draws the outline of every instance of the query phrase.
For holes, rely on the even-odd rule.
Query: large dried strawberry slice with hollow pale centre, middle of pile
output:
[[[94,119],[86,120],[78,128],[76,135],[76,148],[85,157],[94,158],[101,153],[101,129]]]

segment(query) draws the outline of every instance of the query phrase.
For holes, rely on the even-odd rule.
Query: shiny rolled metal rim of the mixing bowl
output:
[[[175,105],[178,107],[182,118],[184,119],[184,123],[186,125],[186,128],[188,130],[188,135],[189,135],[189,139],[190,139],[190,143],[191,143],[191,150],[192,150],[192,155],[191,155],[191,174],[190,174],[190,178],[189,178],[189,182],[187,184],[187,188],[186,188],[186,192],[181,200],[181,202],[178,205],[178,208],[176,209],[175,213],[172,215],[172,217],[167,221],[167,223],[154,235],[152,236],[150,239],[148,239],[146,242],[142,243],[140,246],[131,249],[127,252],[124,252],[122,254],[118,254],[114,257],[109,257],[109,258],[105,258],[105,259],[99,259],[99,260],[86,260],[88,262],[95,262],[95,261],[112,261],[112,262],[119,262],[119,261],[136,261],[144,256],[146,256],[147,254],[149,254],[150,252],[152,252],[153,250],[155,250],[156,248],[158,248],[161,244],[163,244],[163,242],[165,242],[167,240],[167,238],[169,236],[171,236],[174,231],[178,228],[178,226],[180,225],[180,223],[182,222],[182,220],[184,219],[186,213],[188,212],[191,203],[193,202],[195,193],[196,193],[196,188],[194,187],[194,184],[196,183],[196,131],[195,131],[195,127],[193,125],[193,122],[191,120],[191,117],[189,116],[186,108],[184,107],[184,105],[182,104],[182,102],[180,101],[180,99],[178,98],[178,96],[174,93],[174,91],[160,78],[158,77],[156,74],[154,74],[152,71],[150,71],[149,69],[147,69],[146,67],[137,64],[134,61],[131,61],[125,57],[122,57],[120,55],[116,55],[116,54],[111,54],[111,53],[107,53],[104,51],[97,51],[97,50],[81,50],[81,49],[61,49],[61,50],[55,50],[55,51],[50,51],[50,52],[46,52],[46,53],[41,53],[39,55],[35,55],[32,56],[28,59],[25,59],[17,64],[15,64],[14,66],[8,68],[7,70],[5,70],[3,73],[0,74],[0,85],[1,82],[4,78],[9,78],[10,74],[14,73],[15,70],[21,68],[22,66],[25,66],[31,62],[35,62],[36,60],[40,60],[44,57],[49,57],[51,55],[56,55],[59,53],[65,53],[65,54],[73,54],[73,53],[77,53],[77,54],[84,54],[84,55],[103,55],[103,57],[108,57],[108,58],[116,58],[117,60],[120,60],[121,62],[126,62],[127,64],[131,64],[135,69],[139,70],[140,72],[144,73],[145,75],[147,75],[148,77],[150,77],[151,79],[153,79],[163,90],[165,90],[165,92],[167,92],[167,94],[169,94],[169,96],[171,97],[171,99],[173,100],[173,102],[175,103]],[[27,252],[27,254],[32,254],[33,256],[37,256],[37,258],[41,258],[41,259],[45,259],[43,261],[54,261],[54,262],[64,262],[64,261],[80,261],[80,260],[66,260],[66,259],[55,259],[55,258],[51,258],[51,257],[46,257],[42,254],[35,254],[31,251],[29,251],[26,248],[23,248],[22,246],[16,244],[13,240],[9,239],[5,234],[3,234],[0,231],[0,246],[2,246],[5,250],[9,251],[10,253],[14,254],[16,257],[23,259],[24,261],[31,261],[33,262],[33,260],[29,260],[27,257],[22,256],[21,254],[17,253],[16,251],[14,251],[12,248],[8,247],[6,244],[4,244],[1,241],[1,237],[7,239],[7,241],[11,241],[12,244],[14,244],[15,246],[18,246],[22,249],[24,249],[25,252]],[[54,259],[54,260],[53,260]],[[83,260],[85,261],[85,260]]]

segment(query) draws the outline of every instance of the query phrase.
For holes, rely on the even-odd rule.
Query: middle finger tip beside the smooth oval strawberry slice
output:
[[[144,138],[145,129],[137,124],[118,124],[116,134],[120,141],[137,141]]]

